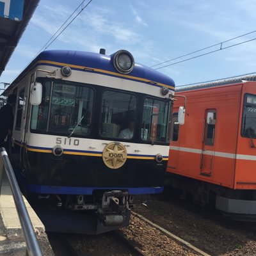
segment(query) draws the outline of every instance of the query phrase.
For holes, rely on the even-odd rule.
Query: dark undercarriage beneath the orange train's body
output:
[[[230,189],[173,173],[166,174],[166,191],[168,187],[179,189],[180,199],[191,198],[193,204],[216,209],[230,220],[256,222],[255,190]]]

